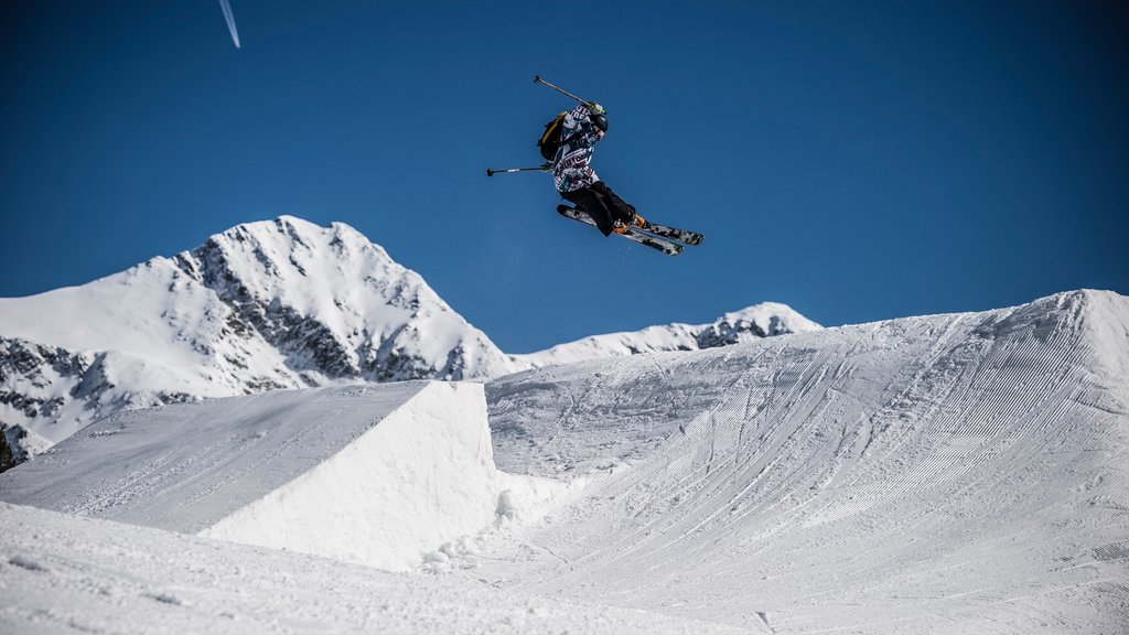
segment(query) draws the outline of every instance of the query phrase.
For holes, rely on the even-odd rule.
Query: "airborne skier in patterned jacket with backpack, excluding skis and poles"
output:
[[[561,145],[550,162],[553,184],[561,198],[583,209],[605,236],[642,225],[634,207],[625,202],[588,165],[596,142],[607,133],[607,113],[595,102],[578,104],[561,122]]]

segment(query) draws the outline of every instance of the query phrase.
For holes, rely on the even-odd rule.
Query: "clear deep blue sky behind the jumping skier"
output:
[[[826,325],[1129,294],[1118,2],[231,0],[0,11],[0,296],[239,223],[340,220],[499,346],[708,322]],[[706,242],[559,218],[536,165],[604,104],[599,175]],[[80,319],[77,316],[76,319]]]

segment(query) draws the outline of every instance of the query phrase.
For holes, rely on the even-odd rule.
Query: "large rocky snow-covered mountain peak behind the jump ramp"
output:
[[[0,423],[32,453],[122,410],[516,369],[355,229],[280,217],[80,287],[0,299]]]

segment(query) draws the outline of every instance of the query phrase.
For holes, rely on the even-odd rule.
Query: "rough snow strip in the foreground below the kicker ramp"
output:
[[[738,633],[5,503],[0,586],[11,635]]]

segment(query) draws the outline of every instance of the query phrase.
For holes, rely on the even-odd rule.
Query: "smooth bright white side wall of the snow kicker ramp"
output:
[[[202,534],[408,571],[495,521],[492,456],[482,386],[430,383],[371,434]]]

